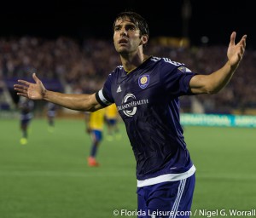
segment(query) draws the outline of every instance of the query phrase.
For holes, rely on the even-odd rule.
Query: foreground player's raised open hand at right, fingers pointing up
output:
[[[230,61],[231,67],[237,67],[242,59],[242,56],[245,52],[246,48],[246,39],[247,35],[244,35],[241,37],[241,40],[239,43],[235,43],[236,40],[236,32],[232,32],[230,36],[230,44],[228,49],[228,59]]]

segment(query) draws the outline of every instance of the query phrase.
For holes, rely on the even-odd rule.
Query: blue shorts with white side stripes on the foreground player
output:
[[[195,174],[181,181],[137,187],[138,218],[189,218]]]

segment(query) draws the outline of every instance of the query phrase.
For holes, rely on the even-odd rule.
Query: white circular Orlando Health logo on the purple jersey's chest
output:
[[[137,100],[135,95],[129,93],[122,100],[122,105],[117,106],[118,111],[123,111],[127,117],[132,117],[137,112],[137,106],[148,104],[148,99]]]

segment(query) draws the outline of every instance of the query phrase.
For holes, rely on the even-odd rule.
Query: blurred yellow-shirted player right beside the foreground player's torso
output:
[[[118,118],[119,118],[119,112],[117,110],[117,107],[115,104],[112,104],[110,106],[106,107],[105,112],[105,119],[108,126],[108,135],[107,140],[113,141],[113,136],[116,137],[116,139],[120,139],[121,135],[119,133],[119,126],[118,126]]]

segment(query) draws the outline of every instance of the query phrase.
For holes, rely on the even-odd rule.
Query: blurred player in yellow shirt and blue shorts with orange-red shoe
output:
[[[105,109],[96,112],[85,112],[84,114],[86,131],[90,134],[92,141],[88,165],[90,167],[96,167],[99,166],[99,163],[96,161],[96,154],[103,138]]]

